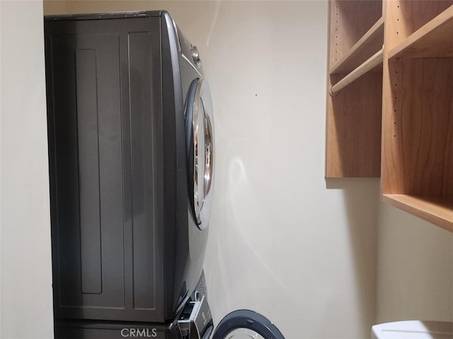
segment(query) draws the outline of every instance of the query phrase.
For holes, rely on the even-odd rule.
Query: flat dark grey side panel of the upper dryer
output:
[[[45,35],[55,317],[165,321],[160,18]]]

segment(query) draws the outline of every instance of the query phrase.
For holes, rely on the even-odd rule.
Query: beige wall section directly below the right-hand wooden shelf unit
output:
[[[382,204],[377,322],[453,321],[452,233]]]

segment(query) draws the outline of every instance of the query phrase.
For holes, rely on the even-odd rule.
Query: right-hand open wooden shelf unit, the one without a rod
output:
[[[386,8],[383,200],[453,232],[453,1]]]

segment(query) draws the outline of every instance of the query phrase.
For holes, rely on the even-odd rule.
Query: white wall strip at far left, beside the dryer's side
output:
[[[0,1],[0,338],[53,337],[42,1]]]

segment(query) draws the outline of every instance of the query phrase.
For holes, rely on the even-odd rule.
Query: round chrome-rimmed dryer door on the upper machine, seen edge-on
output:
[[[204,230],[210,219],[214,179],[214,117],[207,81],[190,85],[186,106],[188,185],[195,223]]]

